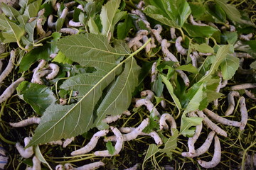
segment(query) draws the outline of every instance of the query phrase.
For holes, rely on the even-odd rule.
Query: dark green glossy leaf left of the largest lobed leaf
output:
[[[46,108],[56,101],[53,91],[48,86],[33,84],[28,81],[23,81],[18,85],[17,93],[39,115],[43,115]]]

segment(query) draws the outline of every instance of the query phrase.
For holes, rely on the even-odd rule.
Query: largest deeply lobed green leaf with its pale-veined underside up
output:
[[[61,89],[79,91],[77,103],[49,106],[43,113],[30,145],[81,135],[99,125],[105,115],[118,115],[127,110],[132,100],[132,91],[137,86],[139,66],[132,55],[117,63],[115,57],[121,53],[117,53],[119,50],[108,46],[107,43],[102,47],[101,40],[104,37],[94,35],[95,39],[92,40],[95,40],[95,44],[88,37],[86,39],[86,35],[70,36],[70,39],[75,39],[69,39],[69,42],[66,38],[59,40],[58,48],[67,57],[80,64],[87,63],[87,66],[95,67],[96,71],[78,74],[63,82]],[[79,45],[76,50],[72,50],[74,43]],[[90,45],[94,48],[88,50]],[[95,62],[87,62],[92,59]]]

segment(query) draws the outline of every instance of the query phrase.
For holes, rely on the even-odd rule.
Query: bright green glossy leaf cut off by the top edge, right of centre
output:
[[[150,0],[144,13],[167,26],[181,28],[191,8],[185,0]]]

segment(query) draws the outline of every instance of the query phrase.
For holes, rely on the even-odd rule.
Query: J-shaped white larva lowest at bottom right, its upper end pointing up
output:
[[[200,164],[203,168],[213,168],[220,163],[221,157],[221,147],[220,140],[217,135],[214,136],[214,154],[213,159],[210,162],[205,162],[203,160],[198,160],[198,164]]]

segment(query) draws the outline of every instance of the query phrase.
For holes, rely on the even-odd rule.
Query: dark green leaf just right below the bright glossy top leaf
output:
[[[208,38],[212,36],[213,33],[218,31],[216,28],[213,28],[211,26],[194,26],[189,23],[184,23],[183,28],[191,37],[201,37],[201,38]]]

